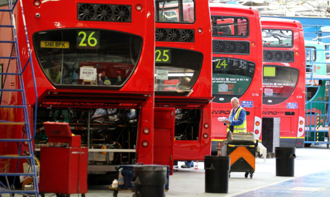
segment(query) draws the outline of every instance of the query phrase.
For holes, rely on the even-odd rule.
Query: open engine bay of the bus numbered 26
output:
[[[39,108],[36,148],[67,147],[68,145],[63,143],[47,143],[47,135],[43,127],[43,123],[47,121],[67,122],[71,132],[81,136],[81,146],[89,148],[89,165],[133,164],[135,163],[139,111],[139,109],[126,108]],[[98,168],[98,170],[112,171],[106,167]]]

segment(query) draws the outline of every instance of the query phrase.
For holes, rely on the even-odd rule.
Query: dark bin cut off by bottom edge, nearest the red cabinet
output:
[[[134,166],[135,197],[164,197],[167,166]]]

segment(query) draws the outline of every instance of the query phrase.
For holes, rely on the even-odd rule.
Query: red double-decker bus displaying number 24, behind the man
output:
[[[262,39],[257,9],[210,3],[212,20],[212,153],[227,137],[218,117],[228,117],[236,97],[246,110],[247,131],[261,135]]]

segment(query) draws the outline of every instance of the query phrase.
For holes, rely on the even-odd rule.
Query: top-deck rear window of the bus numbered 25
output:
[[[156,22],[195,22],[194,0],[155,0],[155,9]]]

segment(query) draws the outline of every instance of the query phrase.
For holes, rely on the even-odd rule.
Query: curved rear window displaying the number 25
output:
[[[203,54],[193,50],[156,48],[155,91],[189,92],[203,63]]]

